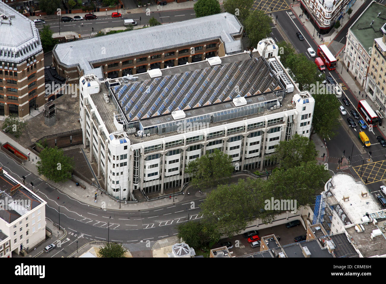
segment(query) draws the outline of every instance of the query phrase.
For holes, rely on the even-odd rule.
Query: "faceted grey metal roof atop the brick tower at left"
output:
[[[0,4],[0,50],[0,61],[15,63],[42,51],[34,22],[3,3]]]

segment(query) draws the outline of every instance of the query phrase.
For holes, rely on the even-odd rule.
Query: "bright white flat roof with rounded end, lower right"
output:
[[[374,200],[362,182],[356,182],[350,175],[337,173],[332,177],[332,184],[335,186],[329,189],[351,223],[361,223],[366,212],[381,210],[378,202]],[[367,196],[362,197],[362,192],[367,193]],[[348,197],[348,201],[345,201],[344,197]]]

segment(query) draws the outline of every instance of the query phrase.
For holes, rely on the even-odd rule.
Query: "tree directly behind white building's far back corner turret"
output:
[[[259,41],[271,33],[272,19],[263,11],[254,10],[244,21],[245,31],[249,38],[249,45],[256,47]]]

